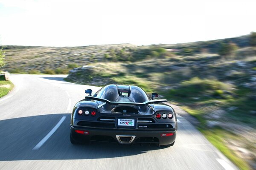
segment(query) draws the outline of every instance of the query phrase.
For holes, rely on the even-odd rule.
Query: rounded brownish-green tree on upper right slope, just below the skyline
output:
[[[237,48],[238,46],[235,43],[222,43],[218,54],[224,58],[233,57]]]

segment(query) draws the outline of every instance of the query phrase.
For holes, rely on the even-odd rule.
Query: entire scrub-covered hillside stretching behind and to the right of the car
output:
[[[195,116],[207,139],[248,170],[256,168],[255,42],[245,35],[172,45],[7,46],[4,70],[69,73],[70,82],[158,92]]]

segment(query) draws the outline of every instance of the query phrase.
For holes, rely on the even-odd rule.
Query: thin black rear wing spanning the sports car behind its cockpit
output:
[[[93,96],[85,96],[85,99],[92,99],[92,100],[97,100],[100,102],[105,102],[108,103],[110,105],[135,105],[135,106],[144,106],[144,105],[150,105],[153,103],[163,103],[163,102],[167,102],[166,99],[160,99],[160,100],[148,100],[145,101],[143,103],[135,103],[135,102],[111,102],[107,99],[101,99],[98,97],[93,97]],[[103,103],[102,105],[99,105],[98,108],[102,107],[103,105],[105,105],[105,103]]]

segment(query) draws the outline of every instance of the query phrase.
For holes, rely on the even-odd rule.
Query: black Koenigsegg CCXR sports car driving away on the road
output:
[[[174,109],[152,100],[134,85],[107,85],[92,95],[88,89],[71,115],[70,142],[155,143],[169,147],[175,143],[177,117]]]

